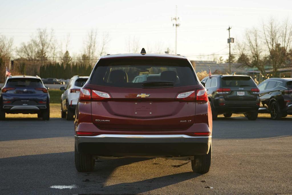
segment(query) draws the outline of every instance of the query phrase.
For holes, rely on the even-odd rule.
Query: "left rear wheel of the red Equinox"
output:
[[[75,167],[79,172],[91,172],[94,170],[95,160],[90,154],[81,154],[75,146]]]

